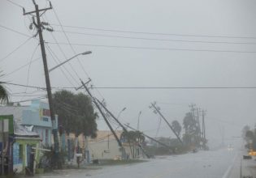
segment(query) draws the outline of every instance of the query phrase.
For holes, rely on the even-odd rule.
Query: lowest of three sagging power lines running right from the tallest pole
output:
[[[54,42],[46,42],[48,44],[56,44]],[[69,45],[67,43],[59,43]],[[124,46],[124,45],[106,45],[106,44],[76,44],[77,46],[93,46],[102,48],[115,49],[149,49],[149,50],[165,50],[165,51],[189,51],[189,52],[210,52],[210,53],[256,53],[256,51],[239,51],[239,50],[217,50],[217,49],[175,49],[175,48],[156,48],[156,47],[140,47],[140,46]]]

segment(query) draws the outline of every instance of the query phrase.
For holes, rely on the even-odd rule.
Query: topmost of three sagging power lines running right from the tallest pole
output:
[[[51,23],[50,25],[59,26],[59,24]],[[122,32],[122,33],[134,33],[134,34],[145,34],[145,35],[160,35],[160,36],[190,36],[190,37],[207,37],[207,38],[236,38],[236,39],[256,39],[255,36],[210,36],[210,35],[193,35],[193,34],[178,34],[178,33],[163,33],[163,32],[136,32],[136,31],[124,31],[124,30],[114,30],[106,28],[83,28],[70,25],[62,25],[65,28],[78,28],[94,31],[104,31],[104,32]]]

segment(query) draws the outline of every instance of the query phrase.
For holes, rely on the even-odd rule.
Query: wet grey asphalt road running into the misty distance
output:
[[[92,178],[240,178],[240,150],[208,150],[157,157],[145,163],[106,166],[98,170],[70,170],[50,177]],[[40,176],[49,177],[49,176]]]

